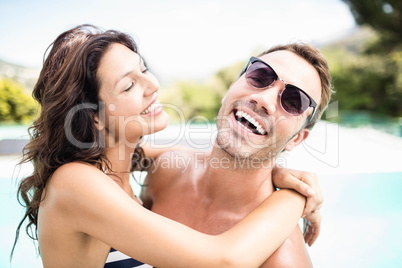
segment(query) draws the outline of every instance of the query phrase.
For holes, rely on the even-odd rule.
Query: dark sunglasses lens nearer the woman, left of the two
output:
[[[255,88],[265,88],[271,85],[276,80],[274,71],[263,64],[255,62],[251,64],[246,72],[247,82]]]

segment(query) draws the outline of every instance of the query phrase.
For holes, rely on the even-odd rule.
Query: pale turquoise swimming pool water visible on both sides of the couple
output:
[[[402,173],[322,175],[320,185],[325,194],[322,231],[309,248],[314,267],[401,267]],[[23,213],[15,193],[15,181],[0,175],[0,267],[9,267]],[[12,264],[42,267],[23,231]]]

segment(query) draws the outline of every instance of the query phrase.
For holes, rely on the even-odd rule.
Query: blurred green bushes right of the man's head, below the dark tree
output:
[[[402,54],[359,54],[335,45],[323,50],[340,110],[402,116]]]

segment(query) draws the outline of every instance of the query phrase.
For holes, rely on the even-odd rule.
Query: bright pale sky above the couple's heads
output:
[[[163,81],[205,78],[277,43],[325,43],[355,26],[340,0],[0,0],[0,59],[40,67],[81,23],[130,33]]]

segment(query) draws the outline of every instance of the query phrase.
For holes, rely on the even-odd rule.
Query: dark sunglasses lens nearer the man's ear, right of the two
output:
[[[281,95],[283,109],[293,115],[301,115],[310,106],[310,99],[295,86],[287,85]]]

